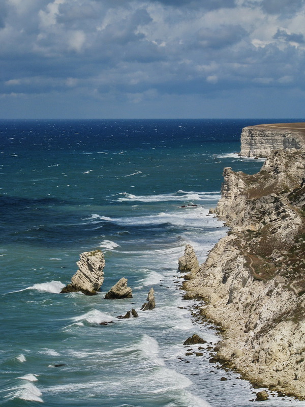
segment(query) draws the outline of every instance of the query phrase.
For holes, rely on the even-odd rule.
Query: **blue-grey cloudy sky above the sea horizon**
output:
[[[0,118],[305,118],[305,0],[0,0]]]

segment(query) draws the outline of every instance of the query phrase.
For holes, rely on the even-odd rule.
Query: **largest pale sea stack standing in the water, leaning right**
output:
[[[104,281],[104,254],[100,250],[84,252],[77,261],[78,270],[60,293],[82,292],[85,295],[97,294]]]

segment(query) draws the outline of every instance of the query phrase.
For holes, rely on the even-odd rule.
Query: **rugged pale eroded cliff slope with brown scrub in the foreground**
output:
[[[275,151],[256,175],[224,170],[228,236],[186,298],[223,328],[217,358],[262,387],[305,399],[305,151]]]

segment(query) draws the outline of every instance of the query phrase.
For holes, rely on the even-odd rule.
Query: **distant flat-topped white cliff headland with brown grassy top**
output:
[[[272,150],[305,147],[304,123],[249,126],[241,132],[240,155],[268,157]]]

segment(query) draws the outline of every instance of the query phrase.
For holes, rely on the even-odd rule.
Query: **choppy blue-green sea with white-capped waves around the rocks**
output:
[[[252,406],[263,389],[209,362],[221,337],[182,299],[178,258],[191,244],[202,263],[226,235],[209,215],[223,168],[264,161],[238,156],[241,129],[300,121],[0,120],[0,405]],[[59,294],[97,249],[101,291]],[[121,277],[133,298],[105,300]],[[195,333],[206,343],[184,346]]]

